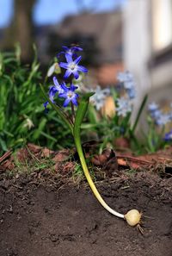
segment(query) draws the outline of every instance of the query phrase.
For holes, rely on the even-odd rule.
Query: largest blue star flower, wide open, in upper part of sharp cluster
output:
[[[71,74],[74,75],[74,78],[79,78],[78,72],[88,72],[88,70],[84,66],[79,66],[79,61],[82,59],[81,56],[77,57],[77,59],[72,59],[70,54],[65,54],[65,59],[67,63],[60,62],[59,66],[66,69],[66,72],[64,74],[64,78],[69,78]]]

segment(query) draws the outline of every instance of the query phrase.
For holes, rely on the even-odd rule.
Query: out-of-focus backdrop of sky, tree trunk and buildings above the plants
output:
[[[171,101],[172,0],[0,0],[0,12],[0,50],[19,42],[24,63],[33,43],[42,66],[76,43],[93,84],[114,86],[128,70],[136,104],[146,92],[150,101]]]

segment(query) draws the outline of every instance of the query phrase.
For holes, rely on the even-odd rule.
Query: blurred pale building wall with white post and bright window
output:
[[[172,0],[127,0],[124,9],[124,63],[137,82],[138,97],[171,101]]]

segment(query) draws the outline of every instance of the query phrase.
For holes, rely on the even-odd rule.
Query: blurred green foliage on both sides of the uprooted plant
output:
[[[46,86],[51,84],[48,79],[45,79]],[[74,147],[71,132],[56,111],[50,105],[48,115],[44,111],[45,98],[39,86],[42,80],[35,47],[31,65],[22,64],[21,49],[18,46],[13,53],[0,53],[0,155],[11,148],[15,150],[22,147],[27,142],[53,150]],[[119,97],[114,89],[111,90],[111,96],[113,102]],[[136,135],[146,100],[147,96],[144,97],[133,123],[131,112],[121,118],[116,115],[114,104],[111,109],[110,105],[107,106],[108,110],[114,111],[114,115],[108,116],[97,111],[90,103],[82,124],[82,140],[97,140],[99,153],[109,145],[114,149],[118,148],[118,138],[124,138],[128,148],[138,154],[156,152],[165,147],[168,143],[163,140],[164,127],[157,129],[149,116],[147,132],[144,132],[142,139]],[[65,110],[71,111],[70,108]]]

